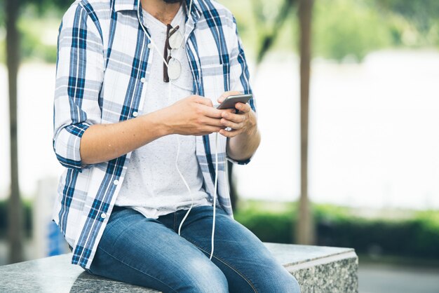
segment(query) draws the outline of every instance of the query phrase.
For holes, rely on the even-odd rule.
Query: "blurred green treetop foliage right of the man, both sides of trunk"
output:
[[[247,51],[264,47],[283,3],[222,0],[236,15]],[[313,12],[313,55],[339,62],[361,61],[373,50],[409,46],[439,46],[439,1],[318,0]],[[255,9],[255,6],[260,6]],[[250,13],[252,11],[252,13]],[[280,27],[272,50],[296,50],[299,39],[296,11]],[[262,24],[261,24],[262,23]],[[277,29],[277,28],[276,28]],[[269,39],[269,41],[273,41]]]

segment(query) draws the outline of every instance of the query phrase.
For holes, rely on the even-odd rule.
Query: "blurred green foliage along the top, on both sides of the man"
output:
[[[260,57],[261,48],[277,51],[297,50],[297,9],[287,13],[284,8],[288,1],[297,2],[220,0],[236,16],[238,31],[248,57]],[[55,62],[55,45],[43,41],[45,31],[58,28],[62,13],[72,2],[22,2],[19,23],[23,35],[22,57],[25,60]],[[316,0],[314,3],[313,55],[316,57],[339,62],[361,61],[370,51],[381,48],[439,46],[437,0]],[[0,0],[0,7],[4,7],[4,4],[5,1]],[[297,3],[294,5],[297,6]],[[286,17],[285,22],[283,16]],[[4,27],[4,17],[4,9],[0,8],[0,27]],[[57,22],[54,24],[53,20]],[[23,25],[23,22],[26,24]],[[43,25],[39,25],[40,23]],[[39,30],[36,30],[36,27],[39,27]],[[273,32],[278,34],[277,37],[269,37]],[[0,62],[4,62],[5,48],[1,36],[0,28]]]

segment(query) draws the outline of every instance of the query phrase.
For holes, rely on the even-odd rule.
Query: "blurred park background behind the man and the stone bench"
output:
[[[360,292],[439,292],[439,1],[219,2],[238,22],[262,132],[231,172],[236,219],[266,242],[355,248]],[[67,252],[50,215],[71,3],[0,0],[0,265]]]

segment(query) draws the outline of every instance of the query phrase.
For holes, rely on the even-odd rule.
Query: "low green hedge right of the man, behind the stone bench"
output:
[[[283,210],[248,205],[235,219],[262,241],[295,243],[295,204]],[[313,205],[317,245],[353,247],[359,254],[439,260],[439,211],[413,212],[406,219],[366,219],[344,207]]]

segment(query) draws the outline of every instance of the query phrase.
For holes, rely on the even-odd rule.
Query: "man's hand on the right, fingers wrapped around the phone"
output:
[[[230,95],[240,95],[239,92],[226,92],[219,97],[218,102],[221,104]],[[225,137],[235,137],[241,133],[253,135],[257,132],[257,123],[255,113],[252,111],[249,104],[236,103],[235,108],[238,113],[235,114],[234,109],[231,111],[224,111],[221,114],[222,129],[219,130],[221,135]],[[231,131],[224,130],[224,128],[231,128]]]

